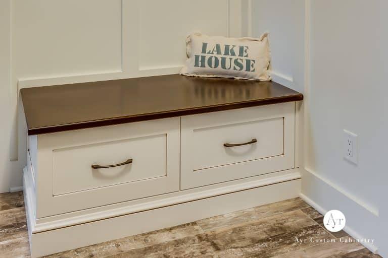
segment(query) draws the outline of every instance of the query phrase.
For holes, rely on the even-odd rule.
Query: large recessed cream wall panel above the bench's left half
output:
[[[121,0],[13,1],[17,80],[121,71]]]

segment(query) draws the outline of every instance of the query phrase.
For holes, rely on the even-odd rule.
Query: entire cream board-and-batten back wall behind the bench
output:
[[[18,119],[23,119],[17,117],[19,89],[178,73],[186,58],[185,38],[190,32],[242,36],[242,28],[248,26],[242,21],[248,5],[242,2],[2,2],[0,8],[10,5],[4,10],[9,13],[12,41],[9,124],[13,128],[6,132],[6,139],[11,139],[7,152],[17,163],[17,171],[10,171],[8,176],[12,186],[21,185],[20,168],[25,165],[18,161],[26,150],[24,139],[17,133],[22,126]],[[5,187],[2,185],[2,189]]]

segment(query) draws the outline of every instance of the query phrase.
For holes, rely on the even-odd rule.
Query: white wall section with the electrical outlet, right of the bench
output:
[[[311,1],[306,168],[312,180],[326,181],[339,192],[312,189],[307,180],[303,188],[325,209],[343,210],[347,224],[360,236],[374,239],[386,164],[381,143],[388,129],[382,115],[388,111],[383,2]],[[343,158],[344,129],[358,135],[358,165]],[[348,198],[340,201],[341,193]]]

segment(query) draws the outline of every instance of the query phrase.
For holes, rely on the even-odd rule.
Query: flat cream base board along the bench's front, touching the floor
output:
[[[31,257],[40,257],[296,198],[299,195],[300,186],[301,179],[295,179],[120,217],[34,233],[30,240]],[[102,234],[102,232],[104,233]]]

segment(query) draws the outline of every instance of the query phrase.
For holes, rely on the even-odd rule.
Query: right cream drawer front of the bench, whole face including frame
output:
[[[295,102],[181,118],[181,189],[294,168]]]

